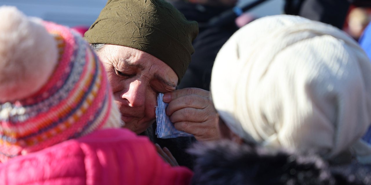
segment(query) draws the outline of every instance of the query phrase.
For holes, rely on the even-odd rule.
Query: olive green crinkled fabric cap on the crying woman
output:
[[[197,22],[187,21],[164,0],[108,0],[85,38],[91,44],[115,44],[149,53],[169,65],[180,81],[197,34]]]

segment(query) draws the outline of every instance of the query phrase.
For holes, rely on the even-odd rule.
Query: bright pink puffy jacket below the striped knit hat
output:
[[[128,129],[95,131],[0,164],[1,185],[181,185],[191,176]]]

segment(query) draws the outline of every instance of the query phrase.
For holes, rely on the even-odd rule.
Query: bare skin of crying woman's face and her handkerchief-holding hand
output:
[[[176,129],[198,141],[219,139],[218,117],[210,92],[198,88],[175,90],[178,77],[158,58],[125,46],[107,44],[98,51],[111,83],[125,127],[140,134],[155,121],[157,95],[169,103],[166,114]]]

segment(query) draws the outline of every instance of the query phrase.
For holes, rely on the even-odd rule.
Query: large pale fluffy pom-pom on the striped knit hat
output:
[[[0,102],[27,97],[46,83],[58,60],[57,43],[42,26],[11,6],[0,7]]]

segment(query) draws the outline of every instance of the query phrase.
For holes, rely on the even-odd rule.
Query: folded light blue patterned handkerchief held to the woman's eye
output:
[[[170,121],[169,117],[165,114],[167,103],[162,101],[164,94],[158,93],[157,107],[156,107],[156,135],[158,138],[176,138],[180,136],[193,136],[187,132],[178,131],[175,129],[174,124]]]

